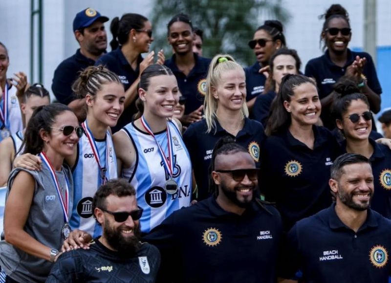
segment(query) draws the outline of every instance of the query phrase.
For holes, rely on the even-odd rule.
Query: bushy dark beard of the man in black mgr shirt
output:
[[[120,255],[124,257],[133,257],[137,254],[141,247],[141,230],[139,224],[134,224],[133,236],[124,237],[122,235],[121,226],[118,228],[113,228],[110,226],[109,221],[105,220],[105,228],[103,229],[103,234],[109,245],[116,250]]]

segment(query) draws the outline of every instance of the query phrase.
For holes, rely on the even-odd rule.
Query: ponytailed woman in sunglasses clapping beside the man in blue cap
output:
[[[132,115],[137,112],[135,101],[137,85],[143,70],[153,64],[154,51],[143,58],[142,53],[149,52],[153,42],[152,24],[139,14],[124,14],[121,19],[115,17],[110,24],[113,39],[110,42],[112,51],[103,55],[95,65],[104,65],[116,73],[125,88],[125,110],[118,123],[112,128],[113,133],[131,121]],[[157,63],[164,63],[164,53],[157,54]]]

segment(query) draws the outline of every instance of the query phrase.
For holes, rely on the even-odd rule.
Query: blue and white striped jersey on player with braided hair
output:
[[[102,166],[106,164],[106,176],[108,179],[117,178],[117,160],[114,146],[109,131],[106,140],[95,140]],[[109,160],[106,161],[106,145],[109,148]],[[72,229],[80,229],[88,232],[94,238],[102,235],[102,227],[92,217],[92,198],[102,185],[102,179],[98,163],[84,134],[77,145],[78,156],[73,168],[73,210],[69,220]]]

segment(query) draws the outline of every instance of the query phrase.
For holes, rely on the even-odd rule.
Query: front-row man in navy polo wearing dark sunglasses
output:
[[[275,283],[282,222],[254,198],[254,159],[225,137],[212,162],[217,196],[175,211],[145,237],[162,254],[158,282]]]

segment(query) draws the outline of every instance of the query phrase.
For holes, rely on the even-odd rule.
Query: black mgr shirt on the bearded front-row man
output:
[[[88,250],[77,249],[62,254],[46,283],[154,283],[159,265],[159,251],[149,243],[142,243],[135,256],[124,257],[95,239]]]

